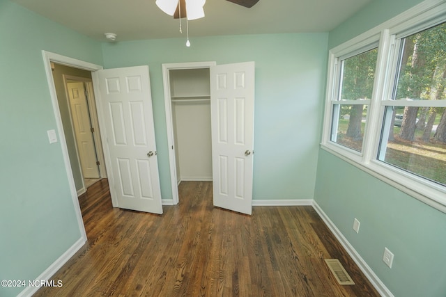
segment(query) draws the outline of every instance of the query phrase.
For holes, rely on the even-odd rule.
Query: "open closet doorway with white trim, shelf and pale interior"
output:
[[[162,65],[173,204],[181,181],[212,180],[209,70],[215,65]]]

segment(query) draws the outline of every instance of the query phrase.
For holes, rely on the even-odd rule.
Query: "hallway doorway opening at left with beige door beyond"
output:
[[[107,177],[91,71],[52,63],[52,78],[77,195]]]

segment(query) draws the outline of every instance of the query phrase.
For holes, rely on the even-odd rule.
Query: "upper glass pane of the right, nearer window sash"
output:
[[[393,99],[445,99],[446,23],[401,41]]]

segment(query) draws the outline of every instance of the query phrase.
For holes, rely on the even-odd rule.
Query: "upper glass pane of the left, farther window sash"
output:
[[[371,99],[378,49],[371,49],[341,61],[338,100]]]

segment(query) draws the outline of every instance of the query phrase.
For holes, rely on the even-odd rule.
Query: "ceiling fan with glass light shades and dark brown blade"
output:
[[[246,8],[252,8],[259,0],[226,0]],[[199,19],[204,17],[203,6],[206,0],[157,0],[156,5],[174,19],[187,17],[187,19]]]

